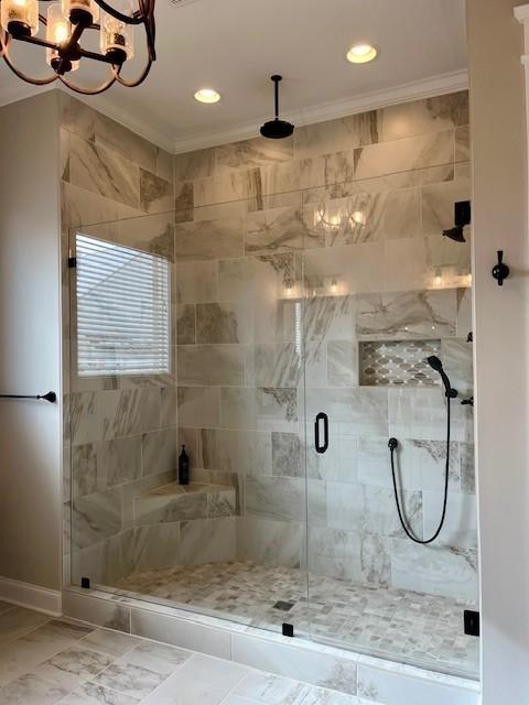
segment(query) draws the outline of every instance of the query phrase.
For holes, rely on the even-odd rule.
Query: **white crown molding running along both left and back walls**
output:
[[[523,10],[526,8],[528,12],[527,18],[529,20],[529,4],[516,8],[516,10]],[[295,112],[285,113],[282,118],[293,122],[296,127],[303,127],[305,124],[314,124],[316,122],[325,122],[326,120],[345,118],[348,115],[365,112],[367,110],[385,108],[399,102],[432,98],[434,96],[455,93],[456,90],[465,90],[467,88],[468,74],[466,70],[461,70],[452,74],[433,76],[424,80],[401,84],[400,86],[386,90],[352,96],[350,98],[345,98],[343,100],[323,102]],[[45,86],[41,88],[20,82],[15,88],[8,90],[2,89],[0,106],[17,102],[18,100],[24,100],[25,98],[30,98],[31,96],[35,96],[40,93],[45,93],[46,90],[64,90],[68,95],[72,95],[71,91],[63,86]],[[168,152],[172,152],[174,154],[193,152],[195,150],[216,147],[218,144],[239,142],[240,140],[255,138],[258,135],[259,126],[270,118],[270,116],[264,116],[251,121],[238,123],[227,129],[196,132],[194,134],[173,140],[170,135],[152,128],[143,120],[134,118],[130,111],[121,108],[119,105],[116,105],[108,96],[98,96],[97,101],[77,94],[75,94],[75,98],[86,102],[86,105],[91,108],[99,110],[108,118],[116,120],[116,122],[119,122],[132,132],[136,132],[136,134],[149,140],[149,142],[152,142],[153,144],[156,144],[158,147],[161,147]]]

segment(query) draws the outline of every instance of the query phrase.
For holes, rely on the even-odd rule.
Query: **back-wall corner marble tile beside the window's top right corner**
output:
[[[174,238],[179,262],[244,254],[244,223],[238,218],[177,223]]]

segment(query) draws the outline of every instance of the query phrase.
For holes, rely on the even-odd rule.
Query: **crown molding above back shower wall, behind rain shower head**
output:
[[[432,98],[434,96],[466,89],[468,89],[468,73],[466,70],[460,70],[451,74],[441,74],[423,80],[401,84],[400,86],[386,90],[377,90],[359,96],[352,96],[343,100],[323,102],[295,112],[284,113],[281,117],[283,120],[293,122],[296,127],[303,127],[305,124],[336,120],[349,115],[398,105],[399,102],[421,100],[423,98]],[[193,152],[194,150],[255,138],[258,137],[259,126],[269,119],[270,116],[266,116],[223,130],[196,132],[195,134],[177,139],[173,143],[172,151],[175,154],[182,154]]]

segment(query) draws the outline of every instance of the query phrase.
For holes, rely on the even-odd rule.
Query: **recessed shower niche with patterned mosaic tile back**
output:
[[[427,361],[441,355],[441,340],[363,340],[360,384],[366,387],[438,387],[439,375]]]

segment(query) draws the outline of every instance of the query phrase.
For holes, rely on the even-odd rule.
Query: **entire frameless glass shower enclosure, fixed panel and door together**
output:
[[[71,231],[74,585],[477,676],[471,256],[441,235],[468,182],[450,170]],[[458,398],[446,521],[419,545],[388,438],[423,539],[446,458],[431,355]]]

